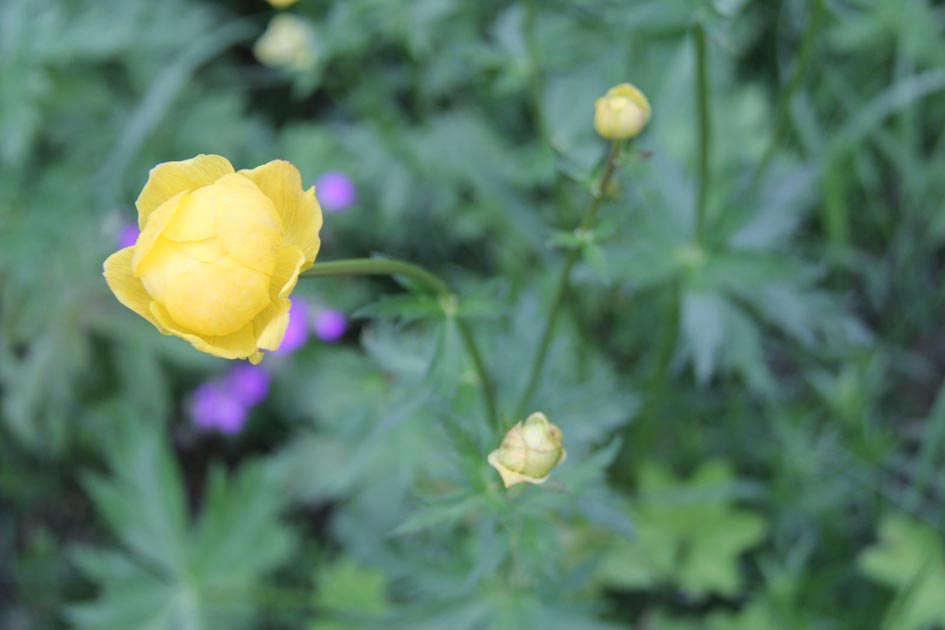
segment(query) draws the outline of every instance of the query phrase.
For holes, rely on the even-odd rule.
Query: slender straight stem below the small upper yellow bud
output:
[[[610,153],[607,156],[607,163],[604,166],[604,172],[601,175],[600,181],[591,190],[591,201],[584,211],[581,223],[577,228],[578,230],[587,231],[594,227],[594,222],[597,220],[597,213],[607,193],[610,180],[613,177],[614,171],[617,169],[617,158],[620,155],[621,146],[622,143],[620,141],[616,141],[611,145]],[[548,311],[548,320],[545,322],[545,330],[538,344],[538,352],[535,355],[535,360],[532,361],[532,369],[528,376],[525,391],[522,393],[522,398],[519,401],[516,417],[525,414],[527,405],[532,395],[535,393],[535,388],[538,386],[538,380],[541,378],[541,372],[545,366],[545,359],[548,356],[548,349],[551,347],[551,340],[554,338],[555,324],[557,324],[561,306],[564,304],[564,298],[571,284],[571,272],[574,271],[574,266],[577,264],[580,256],[580,248],[575,247],[571,249],[564,262],[564,267],[561,268],[561,275],[558,276],[558,284],[555,287],[554,297],[551,300],[551,309]]]

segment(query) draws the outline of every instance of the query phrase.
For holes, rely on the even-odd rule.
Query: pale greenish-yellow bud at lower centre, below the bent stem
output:
[[[502,475],[506,488],[519,483],[541,484],[567,457],[561,430],[543,413],[533,413],[509,429],[502,444],[489,453],[489,465]]]

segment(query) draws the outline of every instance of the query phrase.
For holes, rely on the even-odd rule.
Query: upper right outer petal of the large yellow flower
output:
[[[321,245],[318,231],[322,227],[322,209],[315,198],[315,188],[302,190],[299,170],[285,160],[273,160],[240,174],[255,182],[272,200],[282,216],[285,242],[302,251],[303,269],[311,267]]]

